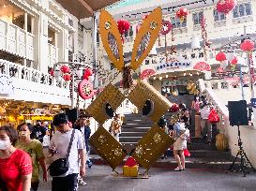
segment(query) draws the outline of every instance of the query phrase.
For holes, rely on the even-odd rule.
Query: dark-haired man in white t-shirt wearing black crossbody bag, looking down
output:
[[[50,142],[50,152],[53,154],[54,161],[67,157],[72,128],[69,127],[68,116],[64,113],[56,114],[53,117],[53,125],[57,128]],[[79,164],[79,160],[81,160],[81,164]],[[85,161],[83,134],[75,129],[68,157],[68,171],[61,176],[53,177],[52,191],[76,191],[78,188],[78,174],[85,175]]]

